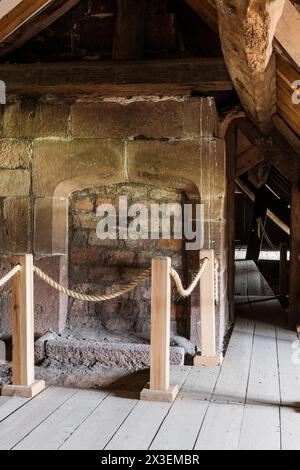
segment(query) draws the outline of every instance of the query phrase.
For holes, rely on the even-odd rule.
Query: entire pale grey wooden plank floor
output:
[[[238,320],[222,368],[172,369],[173,405],[57,387],[33,400],[0,397],[0,449],[299,450],[295,340]]]

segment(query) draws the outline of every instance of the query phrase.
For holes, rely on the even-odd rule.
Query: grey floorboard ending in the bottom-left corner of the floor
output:
[[[12,449],[74,393],[75,390],[72,389],[50,387],[2,421],[0,423],[0,450]]]

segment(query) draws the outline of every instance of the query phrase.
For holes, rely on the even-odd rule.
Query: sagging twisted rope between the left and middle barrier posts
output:
[[[151,269],[147,269],[139,276],[137,276],[130,284],[125,286],[123,289],[120,289],[118,292],[114,292],[112,294],[94,294],[94,295],[86,295],[80,294],[74,290],[67,289],[66,287],[61,286],[57,282],[54,281],[51,277],[47,276],[43,271],[41,271],[36,266],[33,267],[33,271],[39,276],[44,282],[46,282],[50,287],[61,292],[62,294],[71,297],[72,299],[82,300],[87,302],[104,302],[106,300],[116,299],[121,297],[122,295],[127,294],[131,290],[135,289],[139,284],[141,284],[145,279],[150,276]]]

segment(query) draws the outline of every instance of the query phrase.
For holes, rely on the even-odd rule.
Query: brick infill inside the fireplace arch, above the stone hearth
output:
[[[185,202],[184,193],[170,188],[143,184],[117,184],[73,193],[69,203],[69,285],[85,294],[110,294],[128,284],[151,266],[155,257],[167,256],[172,266],[187,279],[186,253],[182,239],[174,239],[174,217],[171,218],[171,239],[162,238],[160,224],[158,239],[133,240],[100,239],[97,224],[101,217],[97,209],[111,205],[120,224],[120,197],[128,207],[171,204],[175,209]],[[175,214],[176,215],[176,214]],[[143,216],[144,217],[144,216]],[[128,226],[132,218],[128,216]],[[150,227],[150,220],[143,223]],[[144,226],[144,224],[143,224]],[[118,225],[119,228],[119,225]],[[144,236],[144,235],[143,235]],[[95,336],[113,342],[149,342],[151,318],[151,279],[117,299],[102,303],[69,301],[67,326],[74,335]],[[187,302],[172,295],[172,324],[174,336],[188,336]]]

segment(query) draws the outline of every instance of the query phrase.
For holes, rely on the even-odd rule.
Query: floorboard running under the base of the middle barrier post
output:
[[[189,367],[172,367],[171,384],[182,387],[189,373]],[[106,449],[148,449],[171,406],[171,403],[139,402]]]

